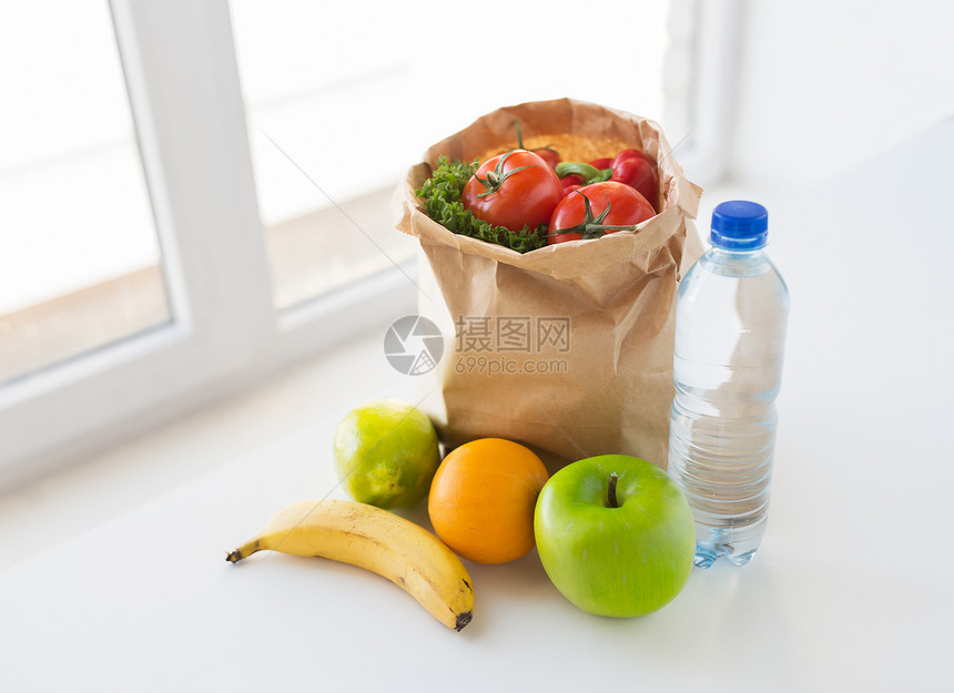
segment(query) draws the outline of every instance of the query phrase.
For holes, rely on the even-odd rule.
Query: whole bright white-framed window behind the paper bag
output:
[[[105,180],[101,187],[122,192],[84,217],[92,215],[93,226],[115,218],[122,243],[97,243],[129,247],[122,263],[49,291],[65,292],[64,300],[72,300],[89,291],[77,291],[84,283],[129,282],[142,272],[151,273],[154,291],[151,307],[138,308],[140,322],[103,337],[97,348],[88,344],[58,354],[63,360],[42,369],[35,369],[39,364],[13,367],[31,373],[0,386],[0,483],[211,401],[349,335],[369,328],[383,335],[392,320],[413,313],[416,288],[407,276],[414,276],[415,247],[392,230],[387,202],[426,146],[483,113],[506,103],[571,95],[670,119],[687,132],[704,130],[691,106],[712,59],[699,68],[696,49],[706,20],[690,0],[603,3],[603,12],[618,20],[591,28],[600,39],[596,49],[586,48],[599,55],[579,54],[575,14],[541,17],[522,3],[508,6],[506,17],[471,17],[437,2],[73,4],[11,6],[2,10],[0,31],[30,34],[52,47],[44,53],[51,70],[79,65],[68,42],[88,42],[94,53],[112,57],[111,63],[98,63],[108,65],[103,74],[112,71],[111,91],[68,100],[79,84],[70,78],[61,89],[50,83],[48,96],[62,105],[48,99],[44,106],[28,94],[22,98],[27,106],[14,112],[32,112],[39,122],[50,115],[44,110],[65,109],[63,122],[77,130],[89,104],[97,113],[109,110],[109,118],[103,115],[109,122],[91,121],[95,128],[83,136],[89,135],[88,150],[99,142],[103,157],[115,159],[114,187]],[[90,19],[94,29],[68,19],[83,12],[98,18]],[[23,30],[22,18],[38,14],[42,23]],[[62,37],[54,34],[54,24]],[[511,45],[501,39],[507,27],[529,32],[534,43]],[[674,28],[671,47],[667,27]],[[570,57],[554,52],[564,40],[574,47]],[[0,50],[17,50],[4,43]],[[595,67],[603,64],[605,54],[611,70]],[[7,64],[22,62],[23,55],[7,57]],[[35,86],[38,80],[18,69],[23,89]],[[122,83],[129,104],[118,86]],[[97,130],[106,125],[105,134]],[[3,130],[0,136],[20,146],[17,133],[9,125]],[[667,131],[673,144],[681,142],[682,132]],[[43,157],[31,154],[34,163],[70,161],[63,156],[74,144],[58,146]],[[680,146],[688,155],[699,142],[690,137]],[[8,173],[20,164],[8,159],[6,146],[0,151],[0,176],[7,176],[0,180],[9,185]],[[83,183],[100,184],[90,180],[100,175],[91,161],[74,167]],[[53,212],[72,207],[71,184],[58,186],[50,171],[37,179],[37,204],[50,210],[28,210],[26,218],[62,232],[64,223]],[[19,208],[22,225],[21,202],[0,198],[0,214]],[[16,233],[6,218],[4,246]],[[143,233],[139,241],[133,242],[132,228]],[[87,227],[69,241],[89,247],[100,232]],[[50,248],[40,249],[39,259],[31,261],[35,269],[26,273],[59,275],[44,254]],[[10,264],[6,247],[2,255],[6,267],[24,269],[26,262]],[[26,292],[24,275],[12,277],[0,277],[8,282],[0,285]],[[121,289],[120,296],[130,291]],[[3,294],[12,296],[8,288]],[[10,309],[47,297],[38,291],[20,304],[11,298]],[[0,333],[0,364],[11,368],[7,348],[7,333]],[[84,353],[68,357],[78,351]]]

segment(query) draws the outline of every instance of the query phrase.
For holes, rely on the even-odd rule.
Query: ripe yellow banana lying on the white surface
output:
[[[460,559],[423,527],[374,506],[333,499],[293,503],[225,560],[236,563],[264,549],[371,570],[457,631],[474,614],[474,588]]]

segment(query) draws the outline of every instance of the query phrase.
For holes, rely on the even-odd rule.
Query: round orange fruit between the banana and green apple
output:
[[[434,475],[427,499],[434,531],[478,563],[518,559],[534,548],[534,508],[548,476],[540,458],[517,442],[467,442]]]

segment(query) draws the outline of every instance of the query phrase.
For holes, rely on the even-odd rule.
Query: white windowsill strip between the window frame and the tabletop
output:
[[[379,332],[379,334],[378,334]],[[0,571],[365,399],[410,399],[390,368],[384,327],[270,378],[235,398],[163,426],[26,487],[0,495]],[[331,449],[331,441],[327,441]],[[314,451],[314,463],[327,450]]]

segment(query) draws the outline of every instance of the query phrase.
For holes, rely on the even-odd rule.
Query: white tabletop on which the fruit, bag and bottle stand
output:
[[[352,567],[226,563],[284,505],[344,497],[341,414],[413,398],[383,354],[338,355],[335,410],[9,564],[0,690],[954,690],[952,133],[812,190],[738,191],[769,206],[792,295],[771,520],[748,567],[697,569],[661,611],[612,620],[570,605],[536,552],[468,564],[475,618],[455,633]],[[734,192],[703,196],[700,227]]]

